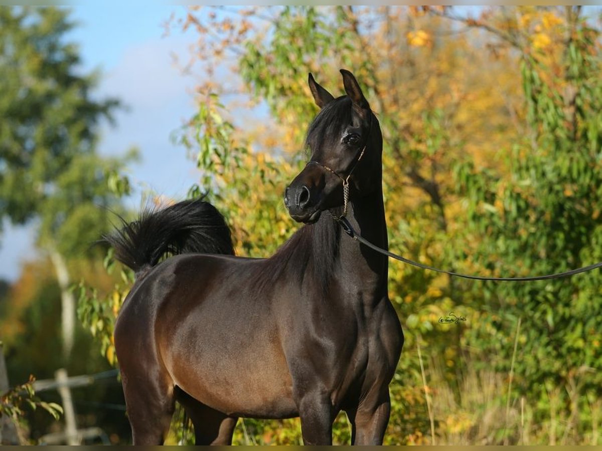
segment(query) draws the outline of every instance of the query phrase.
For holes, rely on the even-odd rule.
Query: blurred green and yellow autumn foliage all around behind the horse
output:
[[[93,76],[69,72],[77,55],[58,38],[66,14],[0,11],[0,72],[15,86],[0,94],[2,117],[14,118],[0,125],[0,214],[37,218],[49,259],[3,290],[11,379],[54,369],[44,359],[57,352],[77,371],[116,365],[111,334],[132,276],[110,251],[79,246],[109,227],[90,206],[122,211],[129,194],[122,170],[134,153],[95,153],[96,123],[119,102],[92,100]],[[170,21],[194,39],[186,66],[202,78],[197,113],[175,133],[199,168],[190,195],[208,193],[226,215],[238,255],[270,256],[299,227],[282,192],[305,164],[317,113],[307,73],[337,96],[344,67],[383,130],[392,250],[510,277],[598,262],[601,19],[582,7],[190,7]],[[26,37],[36,33],[39,43]],[[29,191],[15,189],[23,180]],[[601,444],[601,277],[482,283],[392,262],[389,296],[406,343],[385,443]],[[75,302],[77,352],[64,349],[59,319]],[[452,311],[467,321],[438,322]],[[34,420],[32,431],[48,428]],[[127,423],[113,420],[126,443]],[[191,440],[181,426],[176,417],[170,443]],[[344,415],[334,434],[349,443]],[[241,420],[235,442],[299,444],[300,425]]]

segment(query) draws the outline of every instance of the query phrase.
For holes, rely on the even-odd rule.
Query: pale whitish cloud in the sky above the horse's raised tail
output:
[[[187,42],[174,38],[151,38],[123,50],[119,63],[108,70],[98,95],[122,100],[127,111],[116,114],[116,127],[105,126],[99,150],[120,155],[131,146],[140,149],[142,161],[129,174],[140,191],[152,189],[172,197],[184,197],[198,181],[199,172],[182,146],[170,140],[194,112],[191,88],[194,79],[173,63],[173,52],[185,58]],[[136,205],[139,201],[132,200]]]

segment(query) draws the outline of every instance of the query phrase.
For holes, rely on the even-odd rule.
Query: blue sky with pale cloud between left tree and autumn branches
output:
[[[194,79],[182,75],[172,53],[187,57],[193,35],[176,29],[164,36],[163,23],[177,5],[75,5],[72,19],[79,23],[70,39],[80,46],[83,69],[100,69],[102,81],[95,95],[116,96],[128,106],[117,114],[117,127],[102,128],[99,146],[105,155],[119,155],[131,146],[140,149],[141,162],[129,176],[136,191],[129,201],[140,206],[144,189],[173,198],[184,197],[197,181],[194,162],[183,147],[170,141],[173,130],[194,112]],[[0,244],[0,278],[15,280],[23,260],[36,256],[33,227],[5,224]]]

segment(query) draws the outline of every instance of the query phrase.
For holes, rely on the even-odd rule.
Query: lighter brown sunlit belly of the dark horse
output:
[[[228,415],[296,416],[291,375],[277,340],[265,331],[246,332],[180,337],[166,359],[175,385]]]

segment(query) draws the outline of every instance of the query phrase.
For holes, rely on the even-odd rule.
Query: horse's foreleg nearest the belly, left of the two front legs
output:
[[[326,396],[307,394],[299,402],[301,433],[305,445],[331,445],[332,405]]]

